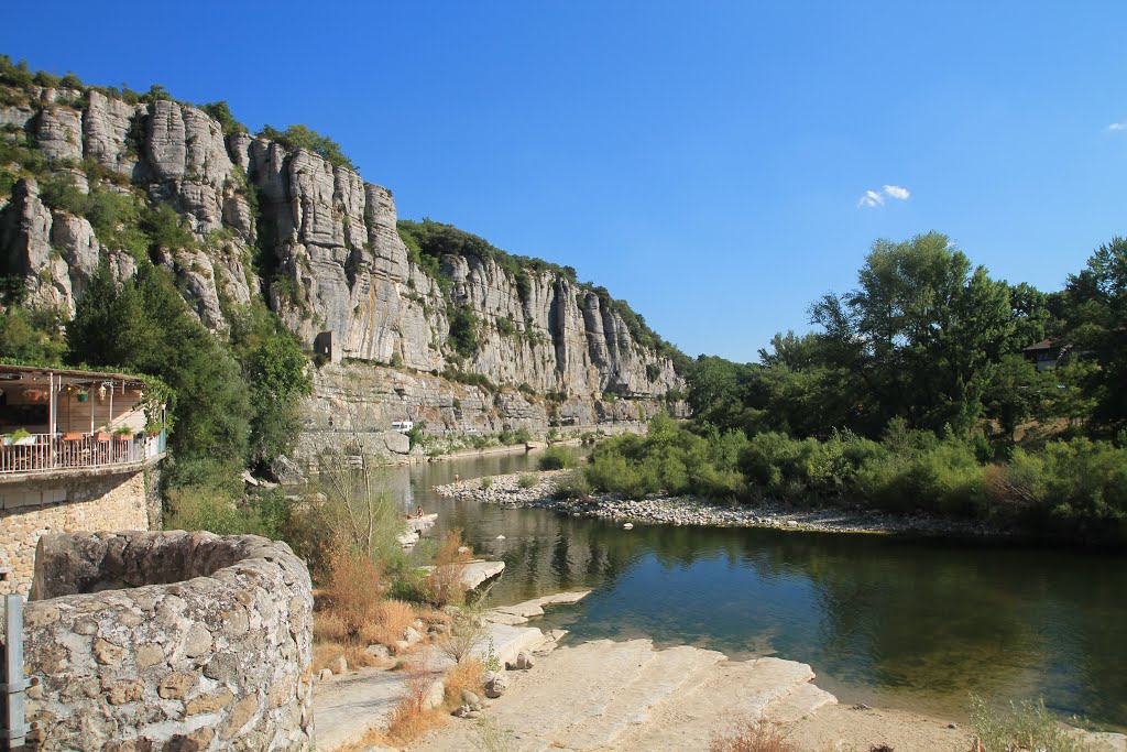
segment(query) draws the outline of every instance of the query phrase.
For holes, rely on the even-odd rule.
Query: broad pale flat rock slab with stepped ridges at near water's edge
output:
[[[792,661],[734,663],[689,646],[655,651],[644,639],[597,640],[511,672],[508,692],[486,715],[511,731],[511,749],[520,752],[704,751],[733,714],[801,718],[835,704],[808,683],[813,676]],[[455,723],[408,750],[470,752],[478,741],[472,725]]]

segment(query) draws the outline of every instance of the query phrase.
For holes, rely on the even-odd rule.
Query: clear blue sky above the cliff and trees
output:
[[[7,8],[0,52],[304,123],[400,216],[749,361],[876,238],[1056,290],[1127,233],[1124,28],[1095,1],[55,2]]]

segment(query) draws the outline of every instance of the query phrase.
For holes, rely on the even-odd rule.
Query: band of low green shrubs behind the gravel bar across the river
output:
[[[627,498],[692,494],[713,499],[846,502],[924,511],[1066,537],[1127,539],[1127,449],[1073,439],[1037,454],[987,462],[975,439],[940,439],[893,421],[881,441],[850,432],[792,439],[710,428],[699,435],[656,418],[647,436],[610,439],[583,471],[592,489]],[[557,490],[569,497],[576,481]],[[575,494],[578,495],[578,494]]]

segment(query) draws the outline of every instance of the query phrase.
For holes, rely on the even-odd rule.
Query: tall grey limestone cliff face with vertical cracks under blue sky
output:
[[[444,290],[410,260],[391,192],[311,151],[224,135],[202,109],[171,100],[128,105],[96,90],[35,87],[21,97],[0,106],[0,138],[37,151],[47,167],[0,165],[23,176],[0,196],[0,273],[23,280],[28,304],[72,313],[103,259],[117,278],[143,260],[98,237],[89,218],[44,203],[44,182],[69,174],[83,193],[133,195],[179,213],[194,247],[148,255],[177,276],[213,330],[263,300],[310,346],[332,333],[336,354],[348,359],[588,400],[682,386],[671,360],[637,342],[605,299],[558,272],[530,272],[517,290],[492,259],[452,255],[441,259]],[[469,357],[447,342],[455,311],[479,322]]]

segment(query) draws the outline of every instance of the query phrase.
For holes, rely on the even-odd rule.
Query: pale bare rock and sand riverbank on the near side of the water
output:
[[[494,609],[483,618],[492,629],[514,628],[509,617],[523,622],[543,613],[545,604],[569,604],[585,595],[545,596]],[[961,723],[913,710],[840,705],[814,683],[810,666],[796,661],[733,661],[687,645],[656,649],[648,639],[600,639],[557,649],[557,639],[553,634],[535,648],[525,667],[508,666],[507,690],[483,709],[482,720],[453,719],[405,749],[704,752],[740,722],[778,726],[791,745],[787,749],[802,752],[975,749],[974,731]],[[1127,750],[1127,738],[1118,734],[1074,733],[1088,750]]]

